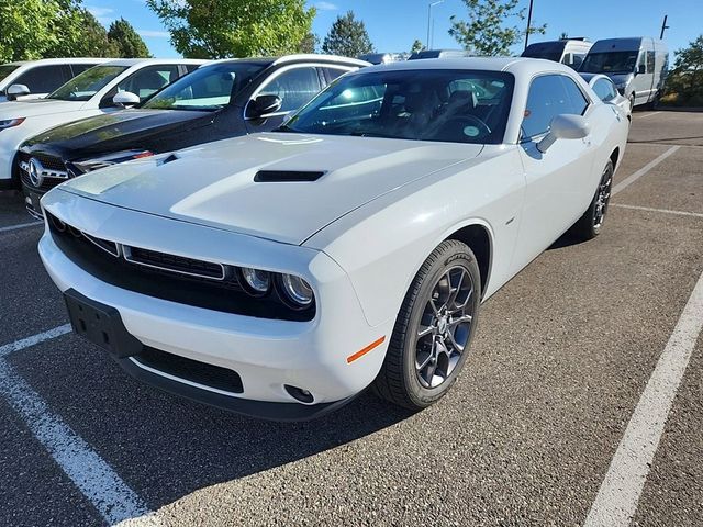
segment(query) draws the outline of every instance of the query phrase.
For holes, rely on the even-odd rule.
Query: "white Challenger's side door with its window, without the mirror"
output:
[[[589,103],[588,97],[566,75],[543,75],[531,83],[520,143],[526,187],[516,267],[527,265],[551,245],[590,203],[589,176],[593,166],[590,136],[557,139],[546,153],[537,148],[554,117],[583,115]]]

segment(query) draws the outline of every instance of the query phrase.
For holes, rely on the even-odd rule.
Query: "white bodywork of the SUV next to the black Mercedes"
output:
[[[181,64],[200,65],[204,64],[204,60],[156,58],[111,60],[100,66],[124,66],[126,69],[112,79],[112,81],[108,82],[88,101],[36,99],[0,104],[0,122],[24,119],[22,124],[18,126],[0,130],[0,187],[11,181],[12,162],[18,148],[24,141],[59,124],[70,123],[100,113],[118,111],[120,108],[116,106],[100,108],[102,98],[115,86],[145,67]]]

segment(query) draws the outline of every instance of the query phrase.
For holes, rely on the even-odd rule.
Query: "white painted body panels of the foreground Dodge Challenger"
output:
[[[354,396],[378,374],[403,298],[435,247],[462,227],[484,228],[488,299],[583,214],[609,159],[615,150],[622,158],[628,132],[618,112],[557,63],[417,60],[347,78],[379,68],[512,74],[503,141],[255,134],[98,170],[42,200],[45,211],[91,236],[300,276],[315,295],[311,321],[228,314],[111,285],[59,249],[47,220],[40,254],[53,280],[115,307],[147,346],[237,371],[244,392],[226,394],[233,401],[300,406],[284,384],[308,390],[315,404]],[[536,149],[542,137],[520,135],[529,82],[544,74],[577,82],[590,99],[591,130],[583,139],[557,139],[546,154]],[[313,182],[257,183],[263,168],[326,173]]]

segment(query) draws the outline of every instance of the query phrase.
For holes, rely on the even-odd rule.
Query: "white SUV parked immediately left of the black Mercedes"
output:
[[[94,66],[45,99],[0,104],[0,189],[21,188],[18,148],[27,138],[58,124],[133,106],[169,82],[194,70],[203,60],[120,59]],[[27,177],[67,179],[65,168],[36,158]]]

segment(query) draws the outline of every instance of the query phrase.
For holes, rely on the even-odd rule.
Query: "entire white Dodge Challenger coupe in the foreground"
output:
[[[423,408],[481,302],[599,234],[627,131],[551,61],[370,67],[277,132],[57,187],[40,253],[75,332],[149,384],[275,419],[367,386]]]

